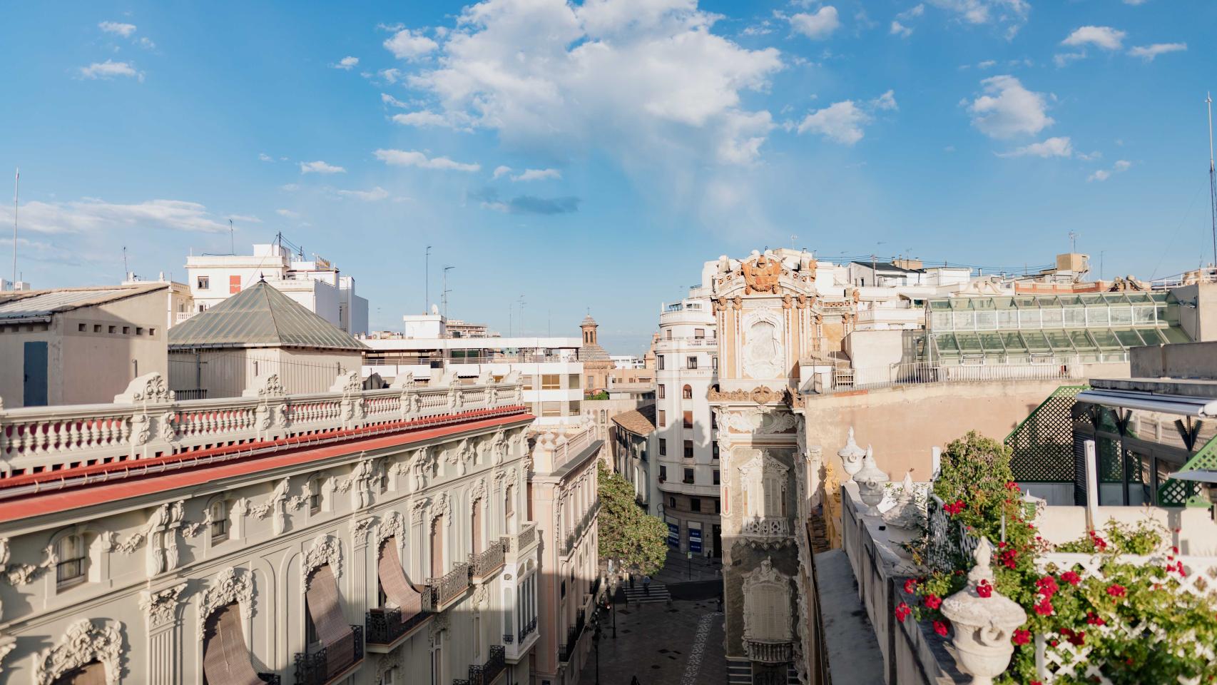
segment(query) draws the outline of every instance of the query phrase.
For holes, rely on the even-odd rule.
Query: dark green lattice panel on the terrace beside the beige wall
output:
[[[1073,482],[1073,403],[1089,386],[1061,386],[1005,437],[1020,483]]]

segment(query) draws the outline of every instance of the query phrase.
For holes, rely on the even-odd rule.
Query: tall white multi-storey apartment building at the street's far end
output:
[[[660,311],[650,472],[657,496],[649,505],[668,524],[668,545],[720,556],[718,440],[707,399],[718,382],[718,338],[708,294],[692,288],[688,299]]]

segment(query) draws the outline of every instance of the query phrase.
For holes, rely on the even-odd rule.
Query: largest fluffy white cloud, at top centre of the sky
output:
[[[634,168],[640,157],[747,164],[772,120],[744,110],[742,94],[783,62],[711,33],[717,18],[696,0],[486,0],[409,83],[449,125],[549,158],[601,148]]]

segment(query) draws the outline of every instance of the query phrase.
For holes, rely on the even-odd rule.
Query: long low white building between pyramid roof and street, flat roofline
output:
[[[583,402],[583,361],[578,337],[460,337],[448,336],[447,319],[431,314],[402,318],[404,333],[360,338],[364,377],[380,375],[386,382],[399,377],[437,383],[478,378],[483,374],[504,377],[520,372],[523,402],[537,416],[537,426],[579,423]]]

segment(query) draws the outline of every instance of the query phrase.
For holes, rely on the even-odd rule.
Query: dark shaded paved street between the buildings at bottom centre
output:
[[[600,636],[600,684],[697,685],[727,681],[723,658],[723,614],[717,601],[673,601],[617,605],[617,638],[612,616],[604,614]],[[595,650],[581,685],[595,685]]]

